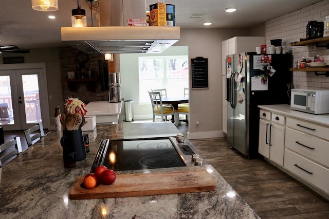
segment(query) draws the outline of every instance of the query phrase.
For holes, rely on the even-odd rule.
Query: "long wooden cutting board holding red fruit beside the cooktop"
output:
[[[206,170],[187,170],[163,173],[117,175],[112,185],[98,185],[92,189],[81,187],[80,176],[70,189],[71,199],[115,198],[204,192],[216,189],[214,178]]]

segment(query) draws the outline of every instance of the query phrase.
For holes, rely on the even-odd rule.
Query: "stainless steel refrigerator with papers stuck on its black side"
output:
[[[241,52],[226,57],[227,144],[259,158],[258,105],[288,104],[291,54]]]

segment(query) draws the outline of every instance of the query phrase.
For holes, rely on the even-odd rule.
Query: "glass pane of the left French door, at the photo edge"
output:
[[[10,76],[0,76],[0,124],[14,124]]]

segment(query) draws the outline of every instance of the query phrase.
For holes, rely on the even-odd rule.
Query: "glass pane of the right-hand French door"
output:
[[[26,123],[42,122],[38,75],[22,75]]]

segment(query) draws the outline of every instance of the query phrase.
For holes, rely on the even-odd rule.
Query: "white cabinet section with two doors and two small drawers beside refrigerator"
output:
[[[260,111],[258,152],[264,157],[283,166],[284,117],[268,111]],[[283,124],[283,125],[282,125]]]

